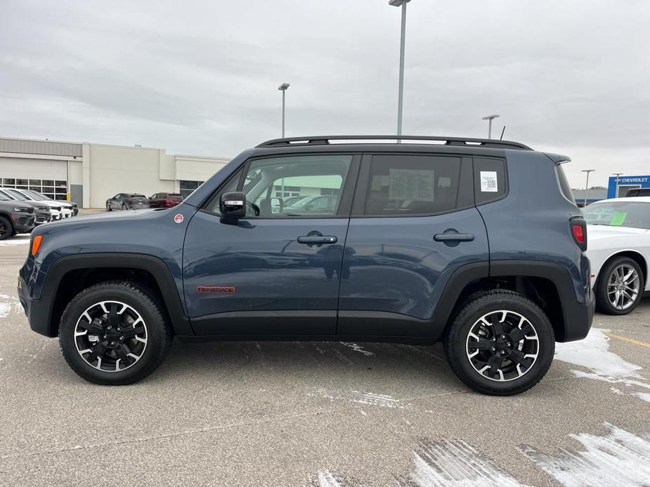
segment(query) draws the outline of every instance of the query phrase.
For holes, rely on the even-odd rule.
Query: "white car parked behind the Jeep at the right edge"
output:
[[[597,309],[628,314],[650,291],[650,196],[598,201],[583,213]]]

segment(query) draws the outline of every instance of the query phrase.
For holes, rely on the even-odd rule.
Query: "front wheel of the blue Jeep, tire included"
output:
[[[117,302],[115,316],[111,316],[111,302]],[[74,296],[61,316],[61,353],[70,368],[89,382],[138,382],[155,371],[169,352],[173,333],[166,316],[160,302],[136,283],[95,284]],[[86,349],[89,352],[84,352]]]

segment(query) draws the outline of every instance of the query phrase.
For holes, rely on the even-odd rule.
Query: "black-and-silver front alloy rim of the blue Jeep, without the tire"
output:
[[[77,352],[89,366],[102,372],[122,372],[134,366],[145,353],[147,342],[142,316],[120,301],[97,302],[74,326]]]

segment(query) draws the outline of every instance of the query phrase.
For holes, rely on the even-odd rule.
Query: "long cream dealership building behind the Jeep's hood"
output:
[[[35,189],[82,208],[103,208],[117,193],[187,196],[230,159],[164,149],[0,138],[0,185]]]

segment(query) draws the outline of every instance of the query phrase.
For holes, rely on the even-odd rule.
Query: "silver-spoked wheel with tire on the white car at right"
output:
[[[625,281],[628,285],[618,284],[617,276],[613,275],[618,272],[618,269],[626,269],[623,271],[623,277],[632,270],[635,273],[633,277],[631,276]],[[618,286],[622,286],[621,289],[624,291],[623,293],[618,291],[619,297],[616,295]],[[625,256],[613,258],[609,262],[605,262],[598,274],[595,289],[596,307],[599,312],[605,314],[628,314],[641,302],[644,286],[643,272],[636,260]],[[617,306],[612,300],[616,300]]]

